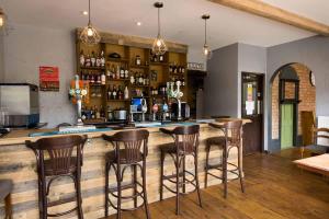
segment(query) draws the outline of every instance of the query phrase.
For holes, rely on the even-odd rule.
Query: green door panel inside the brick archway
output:
[[[293,147],[294,105],[281,105],[281,149]]]

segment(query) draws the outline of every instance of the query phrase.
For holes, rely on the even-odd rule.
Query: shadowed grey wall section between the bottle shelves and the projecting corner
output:
[[[214,50],[212,59],[207,61],[207,72],[205,115],[238,116],[238,44]]]

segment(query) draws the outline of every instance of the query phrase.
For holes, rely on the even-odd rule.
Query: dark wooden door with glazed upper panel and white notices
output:
[[[251,123],[243,126],[243,155],[263,150],[263,91],[264,76],[242,72],[241,117]]]

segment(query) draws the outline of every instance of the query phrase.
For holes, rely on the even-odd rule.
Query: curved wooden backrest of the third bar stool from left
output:
[[[194,153],[198,148],[200,126],[179,126],[173,129],[175,146],[179,153]]]

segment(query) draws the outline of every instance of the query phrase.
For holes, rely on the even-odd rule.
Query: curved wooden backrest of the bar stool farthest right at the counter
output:
[[[231,120],[224,124],[225,138],[230,147],[240,148],[242,137],[242,120]],[[230,134],[230,137],[229,137]]]

